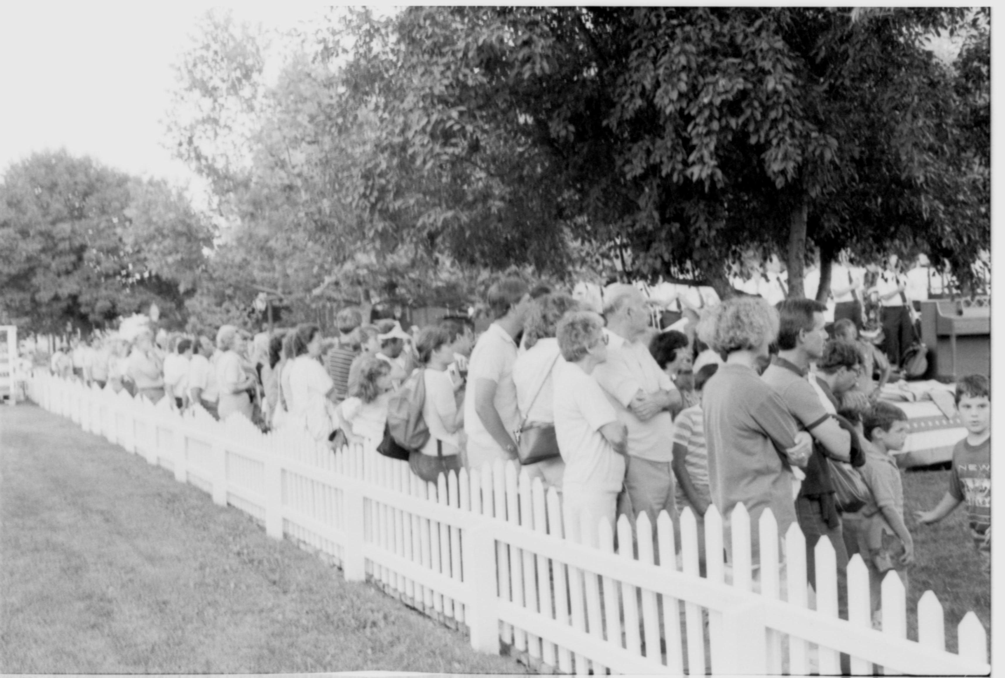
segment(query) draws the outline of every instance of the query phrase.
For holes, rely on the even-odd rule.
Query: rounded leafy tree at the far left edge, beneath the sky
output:
[[[29,330],[89,331],[156,302],[178,324],[210,239],[162,182],[35,154],[0,185],[0,310]]]

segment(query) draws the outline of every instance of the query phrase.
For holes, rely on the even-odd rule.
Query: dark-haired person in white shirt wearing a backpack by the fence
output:
[[[453,363],[457,332],[443,325],[425,327],[419,332],[415,348],[419,363],[425,368],[426,399],[422,418],[429,427],[429,440],[409,459],[412,470],[420,478],[433,481],[441,472],[460,471],[460,432],[464,428],[464,408],[458,407],[457,392],[464,381],[451,379],[446,371]]]

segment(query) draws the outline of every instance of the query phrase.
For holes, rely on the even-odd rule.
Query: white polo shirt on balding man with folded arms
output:
[[[673,420],[662,411],[652,419],[642,421],[628,409],[635,394],[656,391],[676,391],[665,372],[642,342],[628,343],[623,337],[614,341],[611,332],[607,347],[607,362],[598,365],[593,377],[607,394],[618,419],[628,427],[628,454],[655,462],[673,461]]]

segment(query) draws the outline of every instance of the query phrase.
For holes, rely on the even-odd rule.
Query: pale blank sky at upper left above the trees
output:
[[[162,146],[171,64],[200,16],[289,28],[314,3],[0,2],[0,173],[36,151],[65,148],[131,174],[186,183]]]

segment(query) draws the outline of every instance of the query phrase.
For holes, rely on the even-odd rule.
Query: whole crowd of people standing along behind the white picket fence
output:
[[[848,277],[835,296],[854,302]],[[890,290],[879,299],[895,298]],[[179,411],[240,414],[263,430],[298,427],[333,448],[362,441],[373,454],[389,436],[389,412],[407,405],[396,395],[421,393],[416,416],[428,437],[408,450],[416,474],[434,480],[516,460],[560,493],[574,538],[621,514],[645,512],[654,526],[665,510],[676,524],[684,507],[700,523],[715,505],[729,526],[743,504],[753,525],[770,508],[780,535],[799,524],[811,584],[824,535],[842,588],[855,552],[874,602],[886,571],[907,584],[914,545],[891,457],[904,444],[907,416],[879,400],[889,361],[861,338],[857,307],[842,299],[831,315],[812,299],[773,304],[751,294],[654,323],[634,285],[607,286],[597,304],[519,277],[497,281],[483,301],[490,323],[477,335],[468,317],[406,331],[396,320],[365,323],[349,307],[332,337],[314,324],[253,337],[224,325],[212,340],[144,327],[129,345],[74,342],[51,369],[155,403],[168,398]],[[919,519],[939,520],[966,502],[986,555],[988,379],[960,380],[956,400],[968,437],[949,492]]]

